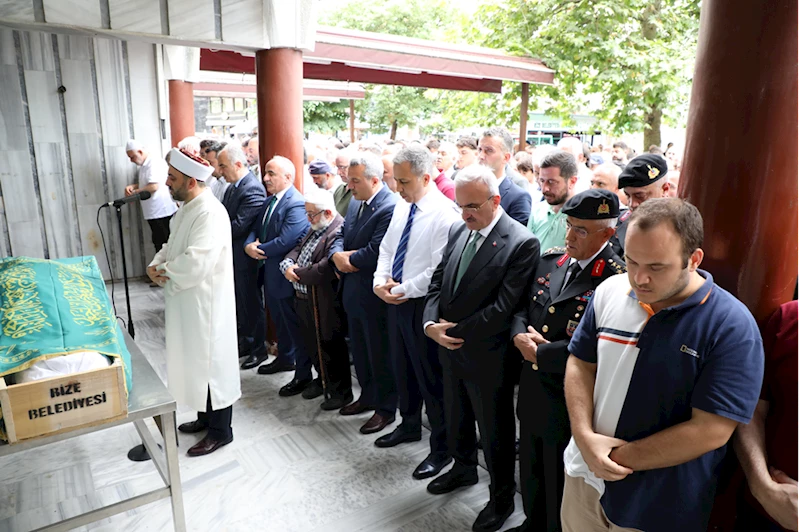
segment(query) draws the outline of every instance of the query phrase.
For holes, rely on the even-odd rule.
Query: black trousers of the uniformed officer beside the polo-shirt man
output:
[[[560,504],[566,481],[563,467],[565,441],[548,441],[531,434],[524,421],[519,426],[519,480],[524,532],[560,532]]]

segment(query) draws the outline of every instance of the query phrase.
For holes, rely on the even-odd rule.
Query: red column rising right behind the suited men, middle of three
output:
[[[297,169],[294,186],[302,192],[302,52],[292,48],[259,50],[255,76],[261,169],[275,155],[288,157]]]

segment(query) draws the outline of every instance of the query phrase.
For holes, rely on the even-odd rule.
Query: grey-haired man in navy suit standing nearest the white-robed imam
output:
[[[236,289],[236,324],[239,356],[265,356],[264,310],[256,289],[258,262],[244,252],[250,226],[266,199],[264,187],[247,167],[247,156],[237,143],[217,155],[219,172],[229,183],[222,204],[230,216],[233,236],[233,271]]]

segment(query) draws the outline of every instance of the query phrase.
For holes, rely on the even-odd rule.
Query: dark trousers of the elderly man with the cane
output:
[[[319,371],[319,347],[316,343],[316,321],[313,306],[307,294],[304,298],[296,294],[294,306],[300,324],[300,337],[303,345],[301,348],[311,359],[316,372]],[[333,336],[328,340],[321,340],[322,359],[325,363],[325,377],[327,389],[332,395],[347,395],[352,392],[352,377],[350,376],[350,359],[347,353],[347,342],[342,331],[333,331]]]

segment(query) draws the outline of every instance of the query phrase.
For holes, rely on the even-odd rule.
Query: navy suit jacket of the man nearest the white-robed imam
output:
[[[244,243],[250,234],[250,226],[261,212],[264,201],[266,201],[266,190],[252,172],[241,178],[238,187],[231,184],[225,191],[222,205],[230,217],[233,268],[236,270],[254,270],[258,267],[258,262],[245,253]]]

